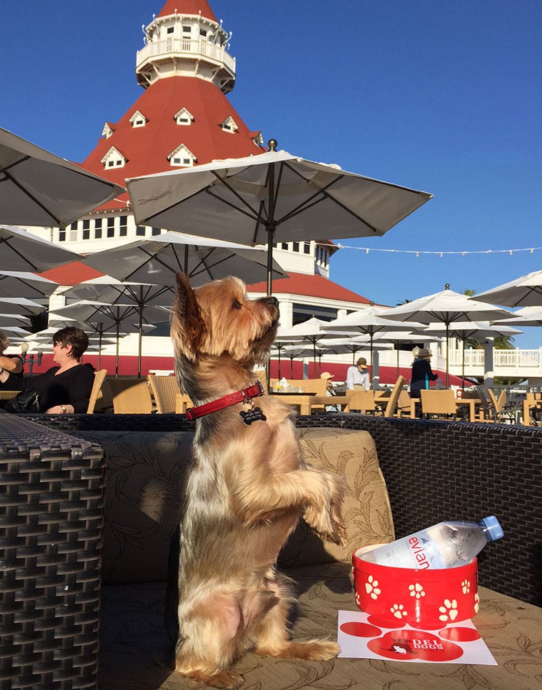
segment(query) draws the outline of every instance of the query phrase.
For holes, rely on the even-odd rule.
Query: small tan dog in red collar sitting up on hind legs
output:
[[[234,277],[192,289],[179,273],[177,288],[175,368],[197,425],[181,519],[175,669],[233,688],[243,676],[230,666],[246,651],[305,660],[339,652],[334,642],[290,640],[293,596],[275,562],[301,516],[322,538],[343,542],[343,482],[305,466],[291,408],[254,382],[277,333],[277,299],[248,299]]]

